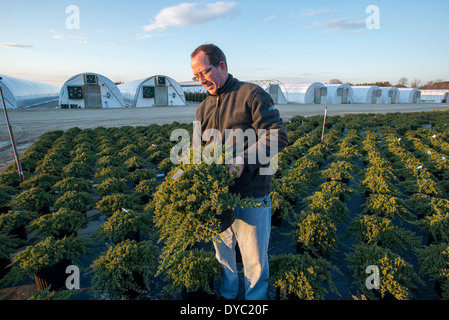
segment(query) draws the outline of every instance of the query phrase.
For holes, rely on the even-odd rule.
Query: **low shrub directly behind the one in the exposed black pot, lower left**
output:
[[[68,235],[77,235],[77,230],[87,223],[86,215],[67,208],[43,215],[30,223],[30,229],[37,234],[61,239]]]

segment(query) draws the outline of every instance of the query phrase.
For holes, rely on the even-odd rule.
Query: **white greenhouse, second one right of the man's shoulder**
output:
[[[326,104],[327,88],[321,82],[285,84],[288,102],[304,104]]]

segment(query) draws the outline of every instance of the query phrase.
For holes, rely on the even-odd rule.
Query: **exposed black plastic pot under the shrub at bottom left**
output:
[[[50,286],[50,290],[55,291],[65,287],[65,281],[69,276],[65,273],[65,270],[71,264],[72,262],[70,260],[63,259],[52,266],[34,272],[37,289],[44,290]]]

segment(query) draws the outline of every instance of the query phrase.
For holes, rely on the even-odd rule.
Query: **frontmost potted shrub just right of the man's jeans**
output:
[[[269,284],[282,300],[319,300],[327,294],[326,286],[338,293],[330,271],[339,270],[324,258],[309,254],[282,254],[270,258]]]

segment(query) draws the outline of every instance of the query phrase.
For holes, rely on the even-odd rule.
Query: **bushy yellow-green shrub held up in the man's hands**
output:
[[[195,155],[196,152],[190,150],[189,156],[193,158]],[[222,157],[226,156],[223,152]],[[160,242],[164,243],[161,270],[176,254],[196,242],[216,241],[222,229],[233,222],[236,207],[262,206],[252,199],[242,199],[239,194],[229,192],[236,172],[227,170],[227,162],[223,158],[220,163],[211,164],[195,164],[199,162],[195,160],[173,168],[151,202]],[[179,172],[183,177],[173,179]]]

